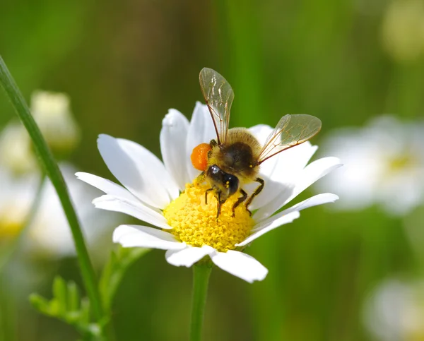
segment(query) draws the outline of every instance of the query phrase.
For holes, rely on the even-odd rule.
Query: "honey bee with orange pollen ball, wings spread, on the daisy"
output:
[[[321,121],[310,115],[287,114],[281,117],[264,145],[261,145],[247,128],[228,128],[234,100],[234,92],[228,81],[211,68],[203,68],[199,80],[215,127],[216,140],[201,143],[192,152],[194,168],[202,171],[196,182],[201,184],[206,181],[210,186],[205,193],[206,204],[208,192],[213,191],[215,194],[218,202],[217,219],[223,203],[236,193],[240,193],[240,197],[232,206],[232,216],[235,216],[235,209],[242,203],[252,214],[248,207],[265,186],[264,179],[259,177],[261,164],[279,152],[317,135],[321,130]],[[248,196],[242,186],[251,182],[259,185]]]

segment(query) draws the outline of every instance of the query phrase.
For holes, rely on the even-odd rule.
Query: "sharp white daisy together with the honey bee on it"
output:
[[[324,157],[308,164],[317,147],[307,140],[321,126],[313,116],[283,116],[275,129],[258,125],[233,133],[228,129],[230,85],[211,69],[201,71],[200,80],[207,105],[196,104],[191,121],[175,109],[163,119],[163,162],[137,143],[100,135],[100,154],[123,186],[93,174],[76,175],[105,192],[93,201],[95,207],[126,213],[156,227],[120,225],[114,230],[114,242],[167,250],[167,262],[176,266],[191,267],[210,258],[247,282],[263,280],[268,270],[242,251],[262,234],[293,222],[300,210],[336,201],[335,194],[322,193],[281,210],[341,163],[336,157]],[[242,140],[235,138],[240,136],[238,129]],[[245,143],[246,136],[251,143]],[[237,148],[240,144],[229,142],[241,142],[242,151]],[[210,149],[198,147],[202,143],[209,143]],[[221,153],[221,148],[228,150]],[[239,160],[242,155],[249,158]],[[222,157],[230,161],[222,162]],[[259,186],[249,188],[248,180],[258,178],[264,184],[257,181]]]

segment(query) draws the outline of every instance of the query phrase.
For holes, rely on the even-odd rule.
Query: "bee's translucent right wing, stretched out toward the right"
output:
[[[321,120],[311,115],[285,115],[266,138],[259,154],[259,164],[288,148],[300,145],[321,130]]]

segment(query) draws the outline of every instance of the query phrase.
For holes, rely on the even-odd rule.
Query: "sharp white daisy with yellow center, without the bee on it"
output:
[[[271,127],[254,126],[250,131],[264,143]],[[76,175],[106,193],[93,201],[95,207],[126,213],[158,227],[117,227],[113,240],[122,246],[167,250],[167,262],[177,266],[190,267],[208,256],[219,268],[247,282],[263,280],[268,270],[241,251],[262,234],[293,222],[300,210],[336,201],[338,196],[324,193],[276,213],[341,164],[336,157],[325,157],[307,165],[317,150],[310,143],[281,152],[261,166],[265,188],[249,207],[252,217],[242,205],[232,217],[232,204],[237,200],[232,196],[217,220],[215,196],[209,193],[206,205],[206,187],[190,184],[200,173],[190,161],[193,148],[215,137],[206,105],[196,104],[191,122],[170,109],[160,133],[163,163],[137,143],[101,135],[100,154],[124,186],[92,174]]]

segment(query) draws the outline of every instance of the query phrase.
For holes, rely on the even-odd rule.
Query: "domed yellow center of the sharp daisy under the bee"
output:
[[[235,244],[249,235],[254,220],[243,204],[235,209],[232,217],[232,205],[237,201],[237,195],[225,201],[217,219],[216,196],[210,191],[206,204],[206,189],[208,187],[204,185],[187,184],[185,191],[163,210],[167,223],[172,227],[167,232],[192,246],[208,245],[220,252],[235,249]]]

